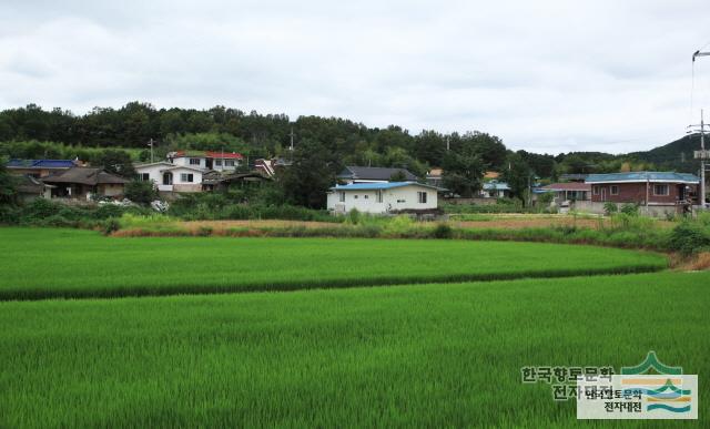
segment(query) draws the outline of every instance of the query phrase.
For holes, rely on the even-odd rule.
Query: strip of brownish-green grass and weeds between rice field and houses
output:
[[[466,215],[471,216],[471,215]],[[475,215],[481,216],[481,215]],[[415,222],[406,216],[379,217],[349,214],[341,224],[239,222],[181,222],[175,218],[124,215],[115,221],[114,236],[232,236],[232,237],[369,237],[369,238],[456,238],[559,244],[590,244],[658,252],[688,247],[674,243],[674,231],[690,226],[698,239],[692,252],[710,248],[710,216],[692,222],[671,223],[618,214],[608,218],[552,215],[486,215],[480,221],[448,223]],[[466,217],[465,217],[466,218]],[[119,231],[114,231],[119,229]],[[689,234],[676,234],[680,237]],[[696,248],[698,247],[698,248]],[[683,252],[687,253],[687,252]]]

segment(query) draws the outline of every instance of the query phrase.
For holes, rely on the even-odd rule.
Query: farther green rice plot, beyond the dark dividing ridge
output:
[[[473,241],[106,238],[2,228],[0,299],[114,297],[659,270],[666,257],[591,246]]]

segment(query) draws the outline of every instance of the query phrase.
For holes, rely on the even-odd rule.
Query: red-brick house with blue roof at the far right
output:
[[[592,208],[605,203],[638,204],[651,215],[682,213],[698,203],[700,178],[673,172],[590,174]],[[602,210],[602,208],[601,208]]]

